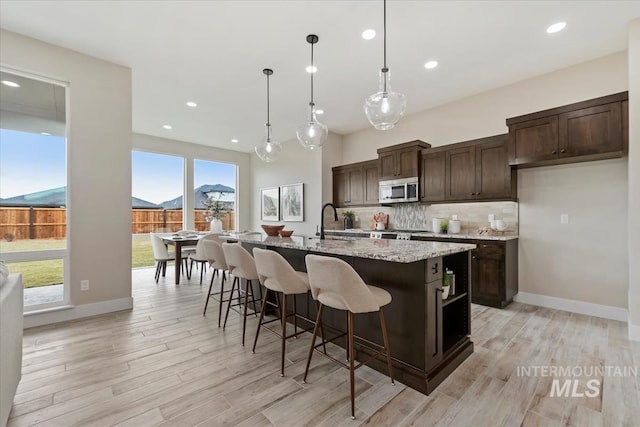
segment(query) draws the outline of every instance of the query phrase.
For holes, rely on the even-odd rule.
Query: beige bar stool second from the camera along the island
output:
[[[307,332],[311,329],[302,329],[298,331],[298,314],[296,311],[296,298],[295,295],[306,294],[309,292],[309,277],[307,273],[296,271],[291,264],[279,253],[270,251],[267,249],[254,248],[253,257],[256,261],[256,269],[258,270],[258,277],[260,283],[267,289],[262,301],[262,308],[260,309],[260,319],[258,320],[258,329],[256,330],[256,338],[253,341],[253,352],[256,352],[256,344],[258,343],[258,336],[260,334],[260,327],[268,323],[280,320],[282,323],[282,333],[278,333],[265,326],[265,329],[279,335],[282,338],[282,354],[280,364],[280,376],[284,377],[284,354],[286,340],[298,336],[303,332]],[[278,301],[277,307],[280,314],[280,319],[273,319],[264,322],[264,312],[267,304],[272,304],[267,301],[269,291],[276,293],[276,299]],[[278,294],[282,294],[282,304],[278,298]],[[293,295],[293,313],[287,315],[287,295]],[[287,335],[287,318],[293,316],[293,334]]]

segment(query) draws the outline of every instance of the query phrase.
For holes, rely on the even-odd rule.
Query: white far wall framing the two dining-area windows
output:
[[[237,221],[238,230],[251,228],[251,190],[249,182],[251,180],[251,159],[250,154],[239,151],[223,150],[205,145],[191,144],[173,139],[159,138],[151,135],[139,133],[133,134],[133,149],[150,151],[154,153],[168,154],[172,156],[184,157],[189,167],[193,165],[193,159],[210,160],[214,162],[233,163],[237,165]],[[193,171],[187,173],[187,177],[193,180]],[[192,182],[193,184],[193,182]],[[193,185],[192,185],[193,188]],[[189,200],[189,203],[193,203]],[[187,209],[188,217],[185,228],[193,229],[194,217],[193,206]]]

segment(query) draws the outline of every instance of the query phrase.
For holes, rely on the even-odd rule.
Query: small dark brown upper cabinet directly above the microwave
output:
[[[378,149],[380,181],[412,178],[420,175],[420,153],[431,147],[424,141],[416,140],[404,144]]]

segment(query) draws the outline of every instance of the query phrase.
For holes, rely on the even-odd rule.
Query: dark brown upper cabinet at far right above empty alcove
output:
[[[625,155],[627,99],[621,92],[507,119],[509,164],[531,167]]]

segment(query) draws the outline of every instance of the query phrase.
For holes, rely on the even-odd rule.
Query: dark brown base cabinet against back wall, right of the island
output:
[[[518,239],[494,241],[417,237],[415,240],[476,245],[476,249],[471,251],[471,302],[474,304],[504,308],[518,293]]]

